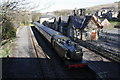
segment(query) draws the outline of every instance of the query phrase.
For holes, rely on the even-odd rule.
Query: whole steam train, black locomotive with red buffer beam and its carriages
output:
[[[78,47],[77,44],[51,28],[41,25],[38,22],[34,22],[34,24],[36,29],[50,42],[51,46],[68,66],[82,65],[82,67],[84,67],[86,65],[86,62],[82,61],[82,48]],[[70,62],[70,64],[68,62]]]

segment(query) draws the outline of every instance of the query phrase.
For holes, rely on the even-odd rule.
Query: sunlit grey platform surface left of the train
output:
[[[9,57],[35,57],[33,53],[32,42],[29,27],[22,26],[19,28],[17,40],[14,43],[14,49]]]

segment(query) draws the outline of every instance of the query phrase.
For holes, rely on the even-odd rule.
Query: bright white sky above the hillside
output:
[[[0,2],[1,1],[2,0],[0,0]],[[49,7],[47,9],[41,10],[41,12],[51,12],[61,9],[91,7],[95,5],[114,3],[120,0],[26,0],[26,1],[31,1],[33,3],[32,6],[39,5],[39,7],[37,7],[36,10],[41,10],[43,8]]]

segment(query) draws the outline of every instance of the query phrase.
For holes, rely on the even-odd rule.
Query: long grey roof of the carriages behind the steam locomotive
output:
[[[50,28],[48,28],[48,27],[46,27],[38,22],[34,22],[34,24],[36,24],[38,27],[40,27],[42,30],[44,30],[45,32],[47,32],[51,36],[60,34],[59,32],[57,32],[53,29],[50,29]]]

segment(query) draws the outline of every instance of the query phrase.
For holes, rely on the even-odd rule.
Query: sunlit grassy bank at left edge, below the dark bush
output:
[[[0,47],[0,57],[7,57],[9,55],[9,53],[12,51],[13,42],[15,40],[16,38],[12,38]]]

